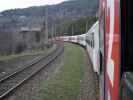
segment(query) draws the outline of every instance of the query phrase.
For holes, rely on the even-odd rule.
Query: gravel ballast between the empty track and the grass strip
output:
[[[47,80],[60,67],[60,62],[61,56],[19,87],[5,100],[39,100],[42,81]]]

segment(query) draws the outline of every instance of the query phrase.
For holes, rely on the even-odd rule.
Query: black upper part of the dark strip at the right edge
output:
[[[125,1],[125,8],[122,10],[122,50],[124,71],[133,71],[133,13],[132,0]]]

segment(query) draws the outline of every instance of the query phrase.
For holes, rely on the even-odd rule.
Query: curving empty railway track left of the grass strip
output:
[[[38,58],[35,62],[2,78],[0,80],[0,100],[7,97],[10,93],[24,84],[24,82],[51,64],[62,52],[63,46],[60,45],[51,54],[48,54],[43,58]]]

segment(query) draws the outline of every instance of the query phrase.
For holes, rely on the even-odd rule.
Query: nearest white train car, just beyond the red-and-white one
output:
[[[86,33],[86,48],[93,64],[94,72],[99,74],[99,22],[97,21]]]

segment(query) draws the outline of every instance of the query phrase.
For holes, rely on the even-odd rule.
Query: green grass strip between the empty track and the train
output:
[[[43,82],[40,100],[77,100],[84,68],[84,49],[74,44],[65,44],[63,64]]]

